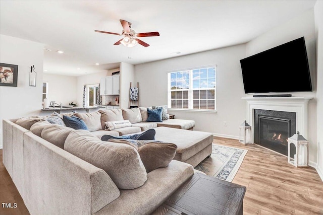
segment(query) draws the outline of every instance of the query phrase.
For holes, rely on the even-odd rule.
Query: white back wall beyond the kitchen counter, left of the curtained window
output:
[[[76,77],[43,74],[43,82],[48,82],[48,100],[68,105],[76,103]],[[78,105],[81,105],[78,103]]]

